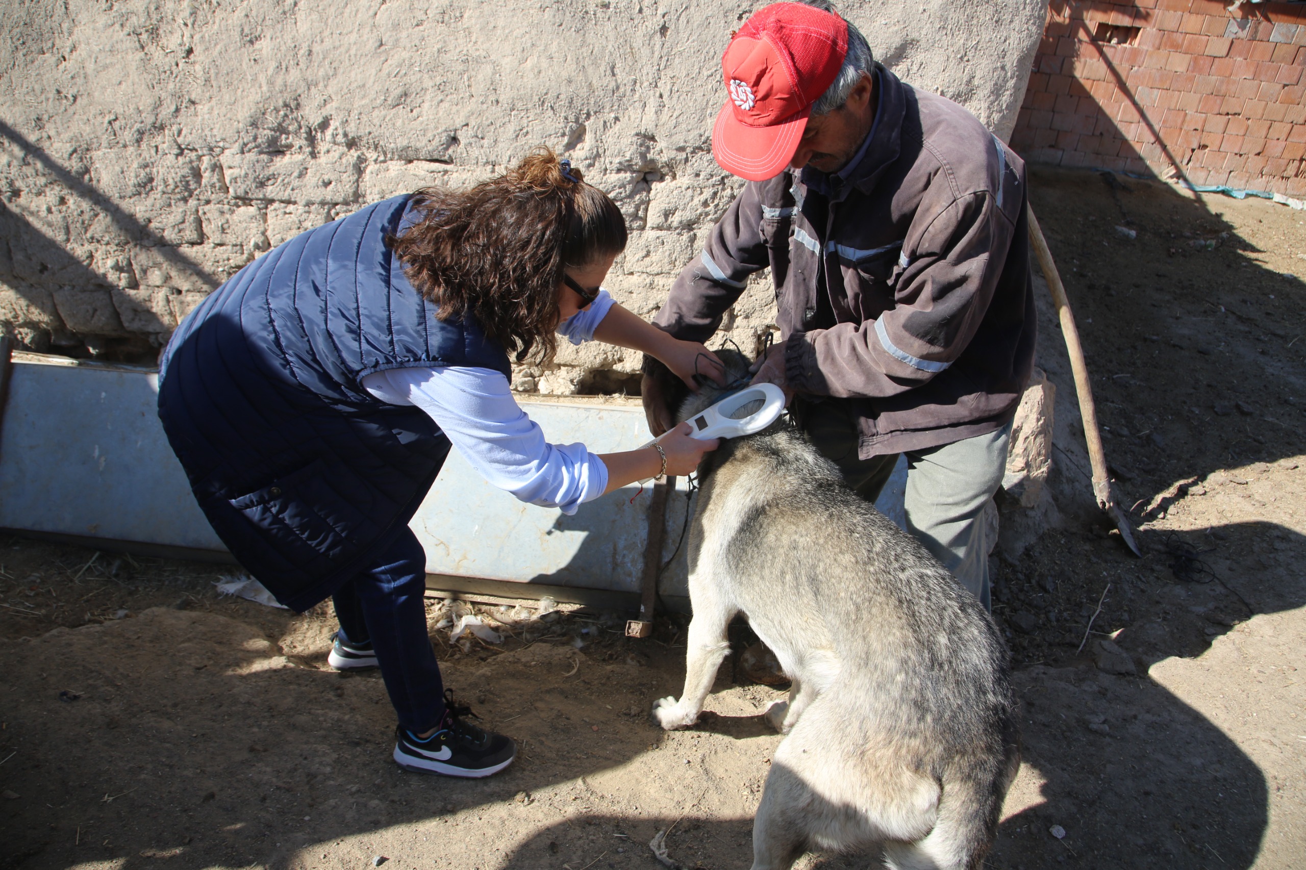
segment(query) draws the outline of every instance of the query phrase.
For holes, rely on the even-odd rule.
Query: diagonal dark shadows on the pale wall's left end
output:
[[[71,191],[82,208],[107,218],[114,235],[150,250],[168,272],[187,276],[191,285],[199,282],[213,287],[218,283],[183,251],[4,121],[0,121],[0,138]],[[0,283],[5,285],[0,291],[12,293],[5,293],[8,299],[0,299],[7,328],[24,347],[39,353],[153,362],[159,336],[172,330],[191,300],[183,303],[182,291],[176,289],[141,287],[140,276],[125,255],[106,264],[84,261],[65,247],[67,239],[51,238],[16,209],[14,202],[21,199],[22,191],[12,187],[0,196],[0,240],[4,243],[0,244]],[[55,226],[63,226],[67,233],[65,222],[56,219]],[[161,321],[157,311],[171,311],[170,323]]]

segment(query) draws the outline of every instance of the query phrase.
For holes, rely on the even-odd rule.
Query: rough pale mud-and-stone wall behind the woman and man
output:
[[[757,4],[760,5],[760,4]],[[739,187],[712,161],[720,55],[755,8],[701,0],[33,0],[0,8],[0,324],[34,350],[151,359],[242,265],[549,144],[633,230],[609,282],[649,316]],[[1045,0],[848,3],[876,56],[1010,136]],[[727,328],[772,320],[759,280]],[[619,391],[565,347],[518,389]]]

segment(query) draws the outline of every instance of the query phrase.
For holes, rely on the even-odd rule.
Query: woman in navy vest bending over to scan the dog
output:
[[[692,385],[718,361],[599,289],[626,247],[613,201],[551,152],[470,191],[426,189],[310,230],[242,269],[172,336],[159,418],[200,507],[282,604],[328,596],[337,668],[376,665],[398,716],[394,760],[488,776],[511,739],[443,690],[407,528],[451,444],[522,500],[573,513],[633,481],[691,472],[716,442],[547,444],[508,389],[555,329],[641,350]]]

